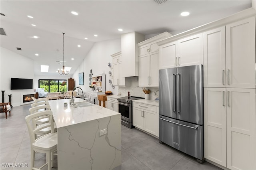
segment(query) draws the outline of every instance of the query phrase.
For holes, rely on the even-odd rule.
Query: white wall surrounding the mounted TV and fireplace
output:
[[[11,93],[12,105],[19,106],[22,104],[21,95],[34,94],[34,85],[33,89],[11,90],[11,77],[33,79],[34,83],[34,61],[3,47],[1,47],[0,51],[0,60],[0,89],[5,90],[4,101],[9,101],[8,95]]]

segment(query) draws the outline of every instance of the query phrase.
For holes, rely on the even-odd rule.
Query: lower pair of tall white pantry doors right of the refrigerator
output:
[[[256,169],[255,89],[204,88],[204,157],[232,170]]]

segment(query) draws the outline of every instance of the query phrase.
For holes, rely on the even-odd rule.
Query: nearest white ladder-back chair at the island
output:
[[[42,116],[47,115],[49,122],[43,125],[39,125],[36,128],[33,127],[33,122],[41,119]],[[57,151],[57,132],[54,132],[53,127],[53,116],[52,111],[41,111],[25,117],[26,124],[28,127],[28,133],[30,137],[30,147],[31,147],[31,160],[30,160],[30,170],[38,170],[44,166],[48,166],[48,170],[53,167],[53,154]],[[36,133],[44,128],[50,127],[51,132],[36,138]],[[42,165],[40,168],[34,167],[35,153],[40,152],[46,154],[46,164]]]

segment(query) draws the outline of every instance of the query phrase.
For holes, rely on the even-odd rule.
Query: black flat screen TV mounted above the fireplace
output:
[[[33,79],[11,78],[11,90],[33,89]]]

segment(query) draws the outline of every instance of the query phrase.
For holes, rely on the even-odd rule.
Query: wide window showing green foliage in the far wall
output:
[[[67,91],[67,81],[66,80],[38,80],[39,88],[44,88],[45,92],[59,92]]]

